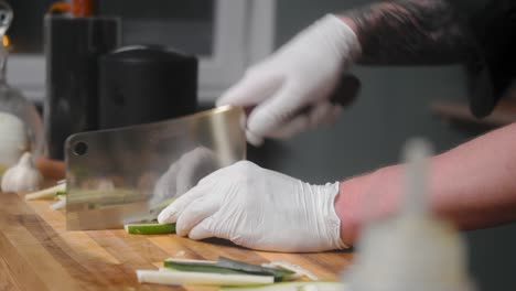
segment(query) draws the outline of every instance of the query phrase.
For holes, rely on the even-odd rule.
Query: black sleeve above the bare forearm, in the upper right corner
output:
[[[516,76],[516,1],[451,0],[476,41],[466,64],[470,107],[479,117],[490,115]]]

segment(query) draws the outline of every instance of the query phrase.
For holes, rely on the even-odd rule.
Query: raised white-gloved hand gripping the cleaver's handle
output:
[[[353,30],[335,15],[326,15],[248,68],[243,79],[217,100],[217,106],[254,107],[246,134],[255,146],[264,138],[288,138],[331,122],[342,107],[333,105],[330,96],[342,73],[359,54]]]

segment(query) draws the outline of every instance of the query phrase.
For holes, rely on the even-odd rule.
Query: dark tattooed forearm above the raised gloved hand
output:
[[[450,64],[470,61],[475,51],[445,0],[381,1],[343,15],[356,26],[363,64]]]

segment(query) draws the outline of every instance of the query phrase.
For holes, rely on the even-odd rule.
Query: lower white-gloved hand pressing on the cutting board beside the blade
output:
[[[310,185],[241,161],[204,177],[158,216],[180,236],[218,237],[259,250],[342,249],[338,183]]]

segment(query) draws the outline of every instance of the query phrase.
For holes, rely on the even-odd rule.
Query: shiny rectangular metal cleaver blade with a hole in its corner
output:
[[[76,133],[65,142],[66,228],[154,219],[205,175],[246,158],[239,107]]]

